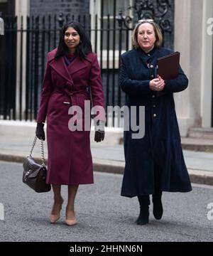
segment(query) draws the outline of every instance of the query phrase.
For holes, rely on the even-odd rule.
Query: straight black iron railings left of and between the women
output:
[[[84,16],[83,20],[90,18]],[[101,19],[100,28],[98,22],[95,16],[94,29],[90,25],[86,29],[99,57],[106,104],[124,105],[125,95],[119,88],[119,61],[121,50],[129,50],[131,29],[118,25],[112,28],[109,16],[103,22]],[[116,23],[116,18],[113,22]],[[31,16],[19,20],[6,18],[5,23],[5,35],[0,38],[0,117],[33,120],[38,111],[46,55],[58,46],[59,22],[56,16]],[[124,37],[126,40],[122,41]]]

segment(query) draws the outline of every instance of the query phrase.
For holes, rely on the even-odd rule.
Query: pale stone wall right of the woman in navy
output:
[[[192,127],[210,127],[212,108],[212,36],[207,16],[213,0],[175,0],[175,50],[190,80],[187,90],[175,94],[180,133]]]

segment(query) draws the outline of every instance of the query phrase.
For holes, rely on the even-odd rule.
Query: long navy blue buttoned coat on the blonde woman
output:
[[[145,106],[144,137],[132,139],[131,129],[124,132],[126,166],[121,196],[149,195],[155,190],[192,190],[182,154],[173,99],[173,92],[187,88],[187,77],[179,68],[177,78],[165,80],[165,94],[160,97],[149,88],[150,80],[155,78],[157,58],[172,52],[165,48],[154,48],[149,53],[134,49],[121,55],[119,83],[126,92],[126,105],[136,106],[137,110],[139,106]]]

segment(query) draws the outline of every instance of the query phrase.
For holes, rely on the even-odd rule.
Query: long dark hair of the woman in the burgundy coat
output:
[[[62,27],[62,30],[60,31],[60,41],[58,44],[58,50],[57,53],[55,53],[55,58],[57,59],[61,56],[68,54],[68,48],[65,44],[65,32],[69,27],[74,28],[80,36],[80,44],[77,46],[75,50],[75,55],[77,55],[77,57],[79,57],[82,60],[87,56],[88,53],[92,52],[92,45],[89,40],[89,36],[87,35],[87,32],[84,30],[81,23],[77,21],[71,21]]]

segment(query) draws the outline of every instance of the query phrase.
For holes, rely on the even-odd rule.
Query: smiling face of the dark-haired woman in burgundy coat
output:
[[[80,35],[72,27],[68,27],[65,31],[65,44],[69,53],[75,53],[76,47],[80,44]]]

